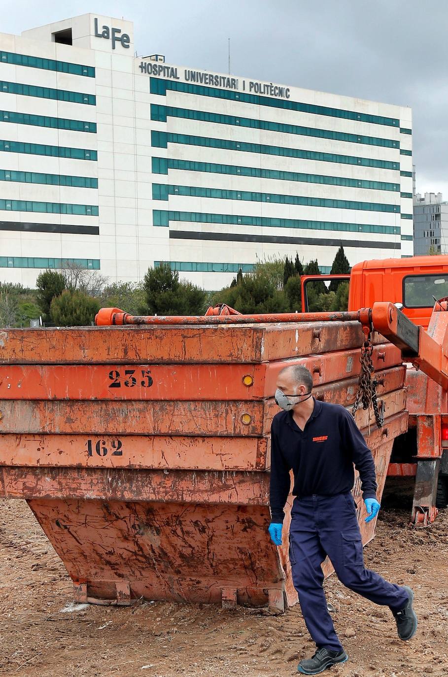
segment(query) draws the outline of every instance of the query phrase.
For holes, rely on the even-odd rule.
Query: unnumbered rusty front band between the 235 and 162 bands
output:
[[[3,400],[0,433],[242,437],[263,435],[263,410],[263,401]]]

